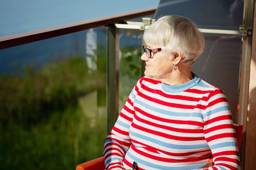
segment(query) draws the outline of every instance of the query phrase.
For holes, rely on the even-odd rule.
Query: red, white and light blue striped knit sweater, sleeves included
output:
[[[193,74],[183,85],[144,76],[104,142],[106,169],[239,169],[225,94]]]

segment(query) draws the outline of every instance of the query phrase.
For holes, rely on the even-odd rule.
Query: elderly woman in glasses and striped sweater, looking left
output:
[[[191,73],[204,36],[187,18],[165,16],[145,31],[145,76],[104,143],[106,169],[238,169],[223,91]]]

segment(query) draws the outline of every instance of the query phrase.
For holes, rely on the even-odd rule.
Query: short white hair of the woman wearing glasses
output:
[[[183,53],[182,62],[190,66],[204,51],[204,35],[188,18],[172,15],[159,18],[144,32],[143,39],[151,48],[163,48],[166,57]]]

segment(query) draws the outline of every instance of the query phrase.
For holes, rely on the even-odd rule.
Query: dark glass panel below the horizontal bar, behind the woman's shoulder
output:
[[[242,52],[241,36],[220,34],[204,34],[204,36],[204,52],[196,60],[192,71],[225,92],[233,120],[236,120]]]

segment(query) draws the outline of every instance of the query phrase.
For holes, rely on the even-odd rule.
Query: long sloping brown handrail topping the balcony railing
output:
[[[156,7],[147,8],[144,10],[129,11],[126,13],[120,13],[116,15],[109,15],[101,18],[94,18],[90,20],[84,20],[81,22],[75,22],[71,24],[60,25],[56,27],[50,27],[46,29],[39,29],[36,31],[23,32],[20,34],[13,34],[11,36],[0,37],[0,50],[9,48],[12,46],[23,45],[42,39],[53,38],[56,36],[63,36],[77,31],[83,31],[93,27],[100,27],[103,25],[115,24],[125,20],[131,20],[132,18],[143,17],[152,15],[156,12]]]

